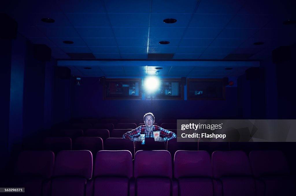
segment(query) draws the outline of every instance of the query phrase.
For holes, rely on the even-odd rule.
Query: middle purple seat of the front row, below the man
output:
[[[137,151],[134,177],[136,196],[170,196],[173,187],[170,153],[165,150]]]

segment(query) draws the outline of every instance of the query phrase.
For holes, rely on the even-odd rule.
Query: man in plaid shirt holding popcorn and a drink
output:
[[[144,139],[140,137],[140,134],[145,134],[145,138],[154,138],[153,131],[160,131],[161,137],[156,138],[156,141],[168,141],[177,137],[174,132],[153,125],[154,120],[155,118],[152,113],[146,113],[144,115],[145,125],[141,125],[136,129],[128,131],[127,133],[123,134],[122,138],[131,141],[143,141]]]

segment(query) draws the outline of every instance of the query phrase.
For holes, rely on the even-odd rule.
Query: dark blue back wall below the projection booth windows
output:
[[[238,116],[237,88],[226,88],[226,100],[223,101],[103,100],[102,86],[98,78],[82,78],[81,86],[75,85],[71,106],[73,118],[141,119],[147,112],[154,113],[157,119],[214,119]]]

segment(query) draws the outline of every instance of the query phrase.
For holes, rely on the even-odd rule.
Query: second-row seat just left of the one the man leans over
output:
[[[104,150],[128,150],[135,157],[135,146],[133,141],[123,138],[108,138],[104,144]]]

